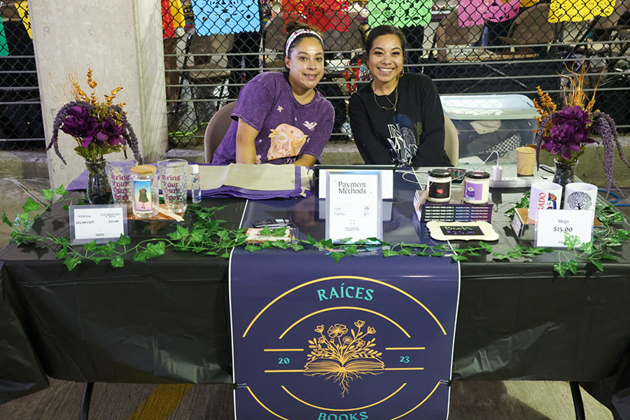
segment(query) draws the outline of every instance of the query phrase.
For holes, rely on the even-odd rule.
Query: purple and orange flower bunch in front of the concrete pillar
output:
[[[66,164],[58,144],[59,130],[62,130],[75,139],[77,146],[74,151],[86,162],[97,162],[103,159],[103,155],[121,150],[126,158],[129,146],[136,160],[141,163],[138,139],[127,121],[127,113],[123,111],[125,103],[113,104],[116,94],[123,87],[116,87],[109,95],[104,95],[105,101],[101,102],[95,90],[97,83],[92,79],[92,69],[87,70],[87,85],[92,88],[90,96],[81,89],[76,74],[69,76],[69,79],[74,100],[57,112],[52,125],[52,139],[46,150],[54,147],[57,156]]]

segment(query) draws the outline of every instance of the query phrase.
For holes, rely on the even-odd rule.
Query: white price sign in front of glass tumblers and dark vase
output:
[[[127,236],[127,205],[100,204],[94,206],[70,206],[70,243],[87,244],[96,239],[97,244],[116,241]]]

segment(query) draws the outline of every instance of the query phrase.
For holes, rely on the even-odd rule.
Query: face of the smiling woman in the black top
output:
[[[377,36],[367,52],[367,68],[374,76],[374,84],[383,87],[398,80],[402,71],[402,45],[397,35]]]

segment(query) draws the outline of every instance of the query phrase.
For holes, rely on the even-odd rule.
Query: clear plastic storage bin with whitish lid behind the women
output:
[[[503,156],[533,144],[537,115],[533,102],[522,94],[443,95],[442,108],[459,137],[459,157],[482,160],[492,151]]]

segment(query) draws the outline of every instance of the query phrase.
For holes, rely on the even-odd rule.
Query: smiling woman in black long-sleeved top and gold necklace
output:
[[[444,114],[433,80],[405,73],[405,36],[381,25],[365,43],[372,81],[350,97],[354,141],[368,165],[451,166],[444,151]]]

